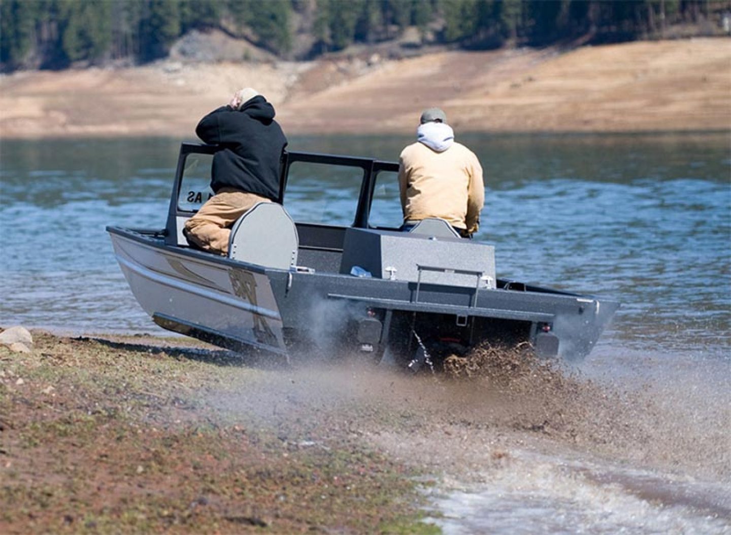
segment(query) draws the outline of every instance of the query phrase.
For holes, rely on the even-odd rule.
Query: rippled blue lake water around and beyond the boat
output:
[[[395,160],[408,141],[294,138],[290,148]],[[485,168],[478,238],[495,244],[501,276],[616,297],[622,308],[605,343],[725,353],[727,135],[461,141]],[[127,290],[104,228],[164,226],[178,143],[1,143],[2,323],[156,332]],[[297,194],[338,199],[337,184],[324,185]]]

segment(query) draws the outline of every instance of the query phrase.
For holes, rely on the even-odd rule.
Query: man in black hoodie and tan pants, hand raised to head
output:
[[[198,123],[198,137],[221,150],[213,156],[211,168],[215,195],[183,228],[194,247],[227,255],[236,220],[254,204],[279,198],[279,165],[287,138],[274,114],[273,106],[249,87]]]

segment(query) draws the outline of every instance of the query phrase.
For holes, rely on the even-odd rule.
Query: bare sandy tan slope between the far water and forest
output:
[[[428,105],[462,131],[731,130],[731,39],[18,73],[0,78],[0,137],[190,136],[239,86],[290,133],[411,132]]]

